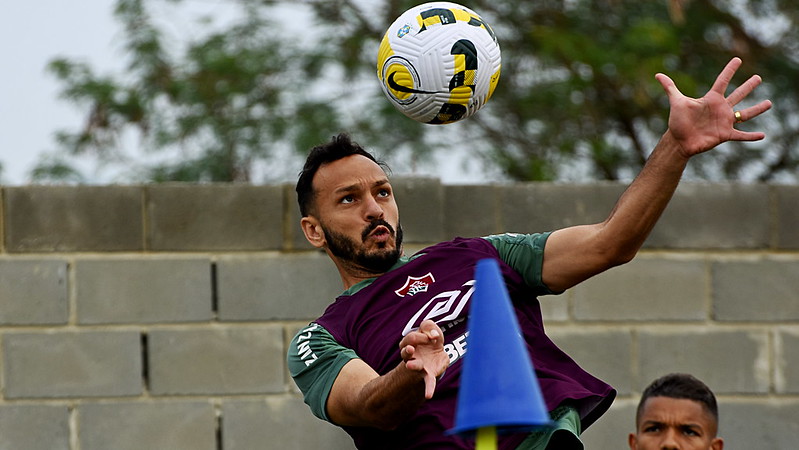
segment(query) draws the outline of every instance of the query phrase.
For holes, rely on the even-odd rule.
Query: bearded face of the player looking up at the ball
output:
[[[394,265],[402,250],[402,228],[383,169],[352,155],[320,167],[313,183],[330,253],[376,273]]]

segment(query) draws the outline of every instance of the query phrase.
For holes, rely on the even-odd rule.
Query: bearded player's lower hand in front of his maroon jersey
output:
[[[426,399],[433,398],[436,380],[449,366],[449,356],[444,352],[444,333],[432,320],[425,320],[418,330],[405,335],[400,341],[400,356],[405,367],[423,371]]]

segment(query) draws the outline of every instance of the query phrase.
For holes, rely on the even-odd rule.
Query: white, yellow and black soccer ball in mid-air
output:
[[[429,124],[465,119],[494,93],[499,44],[477,13],[450,2],[405,11],[377,54],[383,92],[403,114]]]

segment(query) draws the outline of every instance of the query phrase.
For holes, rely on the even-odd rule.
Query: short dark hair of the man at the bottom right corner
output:
[[[651,397],[668,397],[693,400],[705,407],[707,412],[718,423],[719,409],[716,404],[716,396],[705,383],[698,378],[687,373],[670,373],[653,381],[641,394],[641,401],[638,403],[638,410],[635,414],[636,426],[641,420],[644,412],[644,404]]]

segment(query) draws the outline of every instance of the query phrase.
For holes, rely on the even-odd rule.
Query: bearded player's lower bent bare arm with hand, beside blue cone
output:
[[[426,320],[402,339],[399,350],[402,362],[383,376],[360,359],[344,365],[327,400],[334,423],[394,429],[432,398],[437,377],[449,365],[441,329]]]

